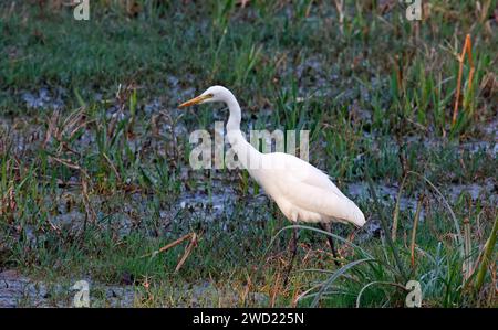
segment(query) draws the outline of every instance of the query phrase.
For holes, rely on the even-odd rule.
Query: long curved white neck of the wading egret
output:
[[[227,138],[231,145],[231,148],[237,153],[240,163],[250,169],[249,164],[256,164],[260,159],[260,152],[256,150],[242,136],[240,130],[241,110],[239,103],[235,98],[234,94],[228,93],[226,95],[225,103],[230,110],[230,116],[227,123]]]

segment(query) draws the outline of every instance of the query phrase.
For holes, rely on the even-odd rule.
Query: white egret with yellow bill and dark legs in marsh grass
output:
[[[261,153],[253,148],[240,131],[240,106],[229,89],[211,86],[199,96],[180,104],[179,108],[212,102],[221,102],[228,106],[230,116],[227,138],[231,148],[242,167],[273,199],[288,220],[292,223],[319,223],[325,231],[330,231],[333,222],[352,223],[359,227],[365,224],[362,211],[335,187],[329,175],[295,156],[283,152]],[[332,237],[328,238],[336,259]],[[295,231],[292,245],[290,267],[297,252]],[[290,268],[288,274],[289,272]]]

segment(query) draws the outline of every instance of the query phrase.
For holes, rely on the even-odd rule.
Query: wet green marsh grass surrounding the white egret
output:
[[[65,7],[0,6],[0,270],[68,287],[131,281],[143,307],[402,307],[408,279],[421,281],[425,307],[496,306],[496,263],[479,258],[498,217],[491,10],[430,1],[428,18],[408,22],[402,6],[346,1],[341,24],[326,1],[135,2],[132,14],[118,1],[92,1],[87,22]],[[453,125],[467,33],[474,83],[465,62]],[[176,106],[214,84],[238,97],[245,131],[310,130],[310,161],[341,189],[367,177],[377,190],[394,187],[393,199],[377,191],[378,207],[371,191],[355,199],[370,221],[384,219],[385,235],[363,230],[357,248],[343,243],[341,269],[325,234],[302,227],[283,287],[291,231],[277,205],[255,196],[246,171],[189,168],[189,132],[212,131],[227,111]],[[40,91],[45,105],[29,107]],[[64,107],[54,110],[54,99]],[[478,142],[487,149],[471,150]],[[491,189],[454,199],[456,184]],[[415,210],[401,210],[391,244],[400,190],[415,204],[425,194],[424,217],[414,233]],[[196,193],[207,205],[180,206]],[[218,200],[227,204],[211,210]],[[179,272],[185,244],[143,257],[190,232],[199,241]],[[465,277],[468,260],[478,280]],[[186,287],[206,283],[217,290],[191,302],[198,295]],[[71,301],[53,290],[53,304]],[[92,295],[106,305],[104,289]]]

